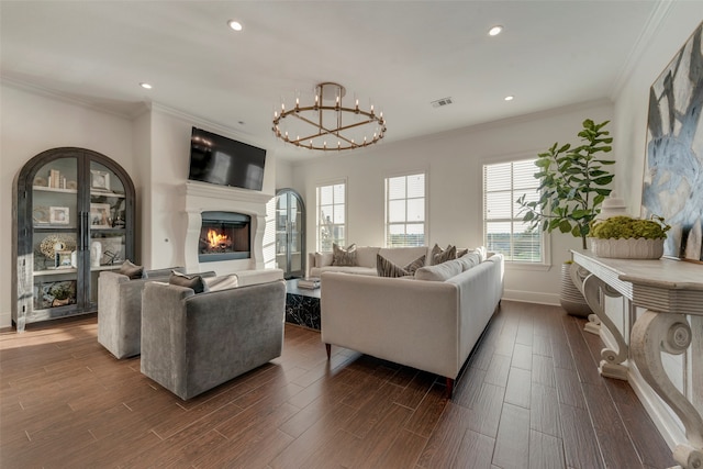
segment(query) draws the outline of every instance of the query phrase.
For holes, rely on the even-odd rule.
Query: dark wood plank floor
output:
[[[666,468],[600,338],[561,309],[503,301],[444,380],[287,326],[283,356],[183,402],[97,343],[96,316],[0,333],[2,468]],[[412,344],[409,344],[412,347]]]

